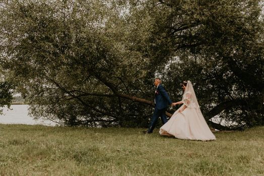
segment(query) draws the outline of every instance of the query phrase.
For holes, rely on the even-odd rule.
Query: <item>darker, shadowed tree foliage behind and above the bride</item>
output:
[[[167,58],[167,64],[160,68],[166,84],[172,88],[182,80],[191,80],[205,114],[219,107],[218,113],[224,110],[219,117],[236,122],[234,128],[263,125],[264,25],[260,2],[190,2],[161,1],[169,13],[157,22],[157,29],[162,30],[153,36],[170,41],[166,46],[170,52],[157,56]],[[220,104],[223,108],[216,106]]]

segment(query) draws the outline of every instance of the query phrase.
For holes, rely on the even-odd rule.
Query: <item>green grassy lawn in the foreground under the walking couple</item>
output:
[[[0,125],[0,175],[264,175],[264,127],[208,142],[142,131]]]

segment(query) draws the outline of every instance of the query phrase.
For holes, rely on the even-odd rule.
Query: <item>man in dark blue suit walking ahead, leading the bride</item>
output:
[[[147,131],[143,131],[144,133],[153,132],[159,117],[161,118],[162,123],[165,124],[168,121],[165,115],[166,108],[168,105],[171,106],[173,105],[167,92],[165,91],[164,87],[161,85],[160,78],[155,78],[154,85],[156,86],[155,99],[154,99],[155,110],[150,122],[149,129]]]

